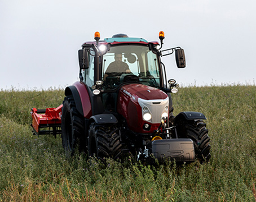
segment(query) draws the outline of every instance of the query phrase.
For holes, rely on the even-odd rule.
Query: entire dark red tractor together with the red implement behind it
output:
[[[128,153],[138,160],[155,157],[176,162],[210,158],[210,138],[199,112],[174,116],[171,93],[161,57],[175,52],[176,66],[186,67],[180,47],[162,49],[157,41],[116,34],[82,44],[78,51],[80,81],[65,88],[57,108],[32,109],[36,135],[61,134],[67,153],[84,151],[99,159],[122,159]]]

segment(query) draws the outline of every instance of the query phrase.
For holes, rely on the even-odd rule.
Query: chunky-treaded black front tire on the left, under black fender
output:
[[[88,153],[99,159],[121,157],[121,135],[118,127],[91,123],[88,137]]]

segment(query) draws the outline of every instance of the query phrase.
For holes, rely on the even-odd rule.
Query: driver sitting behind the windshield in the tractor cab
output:
[[[108,76],[120,76],[129,73],[131,73],[129,66],[122,62],[122,53],[114,53],[114,62],[109,64],[103,79],[105,80]]]

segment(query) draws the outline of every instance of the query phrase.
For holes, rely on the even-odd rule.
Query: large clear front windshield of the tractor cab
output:
[[[103,55],[102,75],[104,89],[114,89],[123,82],[141,82],[160,87],[157,55],[147,46],[120,45],[111,47]]]

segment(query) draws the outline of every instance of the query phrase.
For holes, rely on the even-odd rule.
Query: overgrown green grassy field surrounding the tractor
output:
[[[256,86],[181,88],[175,115],[202,112],[209,163],[155,167],[133,159],[67,158],[60,137],[33,136],[30,109],[57,107],[64,90],[0,91],[1,201],[256,201]]]

